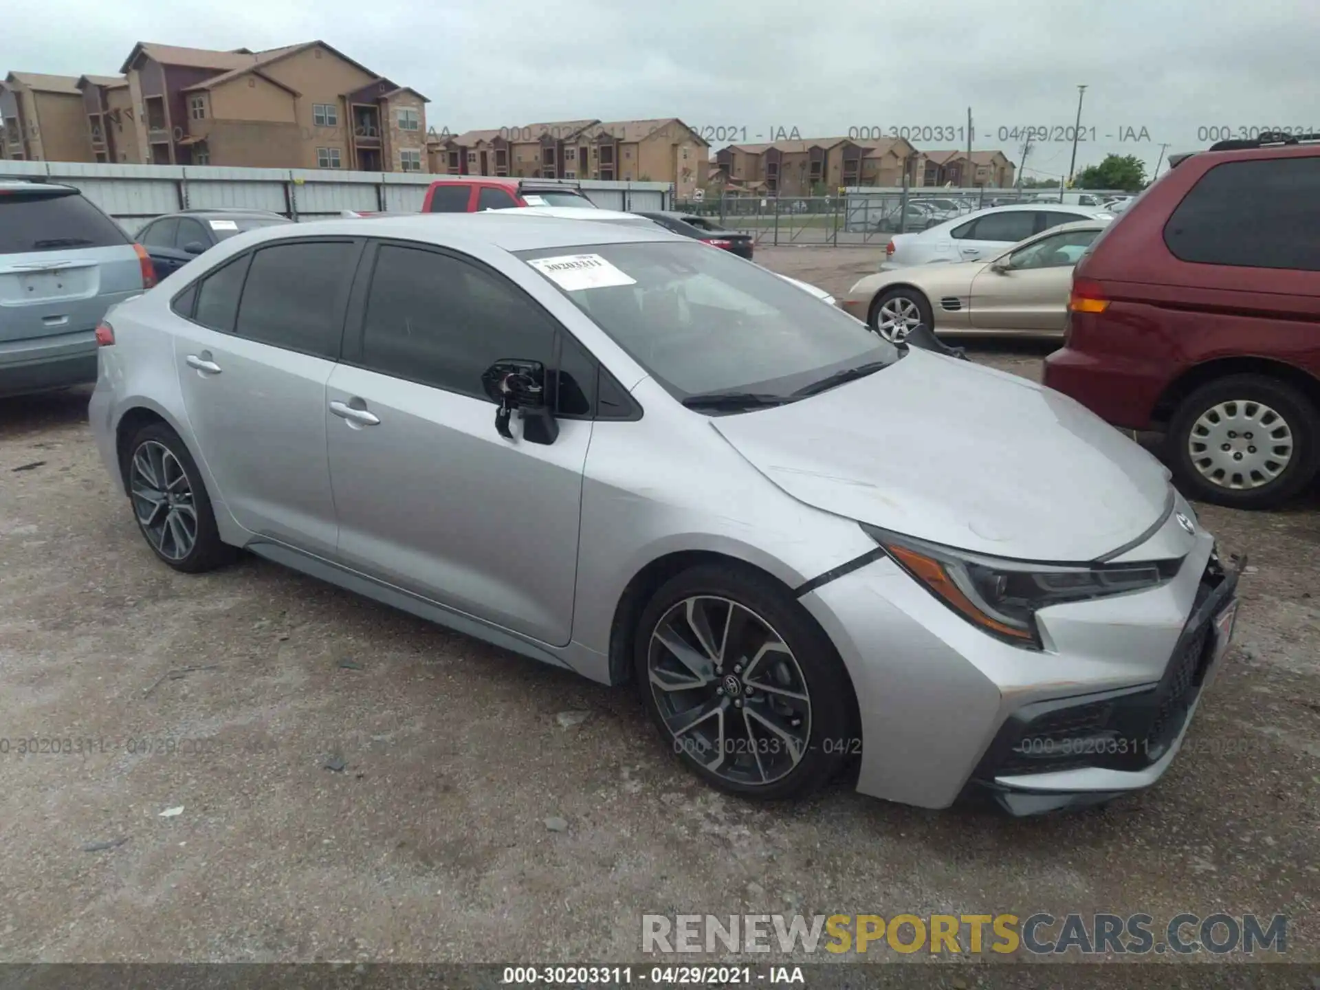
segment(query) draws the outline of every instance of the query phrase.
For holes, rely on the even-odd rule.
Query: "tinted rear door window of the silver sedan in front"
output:
[[[347,240],[261,248],[243,286],[235,333],[334,360],[356,255]]]

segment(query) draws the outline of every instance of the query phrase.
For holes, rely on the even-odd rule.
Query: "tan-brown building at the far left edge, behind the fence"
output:
[[[0,157],[95,161],[77,77],[9,73],[0,83]]]

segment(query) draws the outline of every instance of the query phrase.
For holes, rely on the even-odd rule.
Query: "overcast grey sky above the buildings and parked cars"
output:
[[[1208,128],[1320,131],[1315,0],[0,0],[0,74],[117,73],[136,41],[310,38],[426,94],[437,131],[678,116],[714,145],[907,128],[935,149],[965,145],[970,106],[973,147],[1014,161],[1014,127],[1048,128],[1026,168],[1057,176],[1080,83],[1078,168],[1111,150],[1150,168]]]

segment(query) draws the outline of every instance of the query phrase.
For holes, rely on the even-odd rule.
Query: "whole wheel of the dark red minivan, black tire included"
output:
[[[1253,434],[1262,430],[1276,441],[1270,453],[1253,442],[1261,440]],[[1272,508],[1316,474],[1320,412],[1287,381],[1229,375],[1179,404],[1166,436],[1166,457],[1188,498],[1233,508]],[[1234,467],[1245,470],[1234,473]]]

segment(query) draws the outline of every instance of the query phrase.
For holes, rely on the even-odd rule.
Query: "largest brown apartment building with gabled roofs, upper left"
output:
[[[267,51],[139,42],[121,71],[144,162],[428,170],[426,98],[323,41]]]

